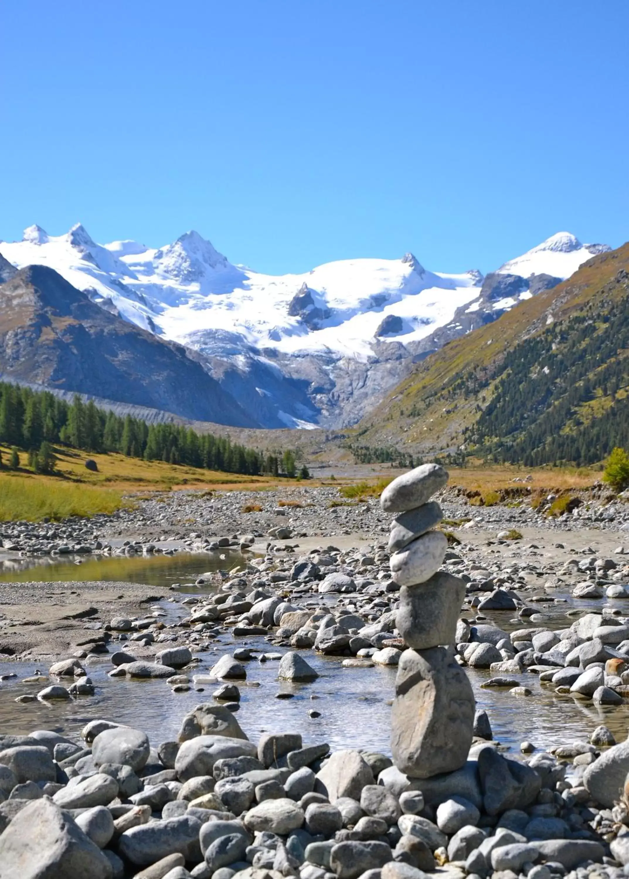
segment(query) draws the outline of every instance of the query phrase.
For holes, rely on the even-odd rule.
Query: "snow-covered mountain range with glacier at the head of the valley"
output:
[[[608,249],[560,233],[484,279],[429,272],[410,253],[273,276],[232,265],[194,231],[157,249],[101,245],[80,224],[0,242],[12,265],[48,265],[103,308],[200,352],[269,427],[354,423],[441,331],[493,319]]]

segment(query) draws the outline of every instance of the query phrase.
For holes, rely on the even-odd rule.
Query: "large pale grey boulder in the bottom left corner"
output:
[[[2,834],[0,876],[112,879],[106,856],[51,800],[33,800]]]

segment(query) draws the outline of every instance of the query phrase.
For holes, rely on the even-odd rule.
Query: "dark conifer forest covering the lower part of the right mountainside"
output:
[[[589,301],[508,352],[466,439],[495,461],[578,466],[629,447],[629,297]]]

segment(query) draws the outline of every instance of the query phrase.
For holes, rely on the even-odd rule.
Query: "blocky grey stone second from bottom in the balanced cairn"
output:
[[[464,597],[464,581],[442,570],[421,585],[402,586],[395,618],[399,634],[414,650],[454,643]]]

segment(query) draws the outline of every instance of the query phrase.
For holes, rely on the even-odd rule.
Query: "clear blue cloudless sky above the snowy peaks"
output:
[[[628,25],[626,0],[4,0],[0,238],[197,229],[266,272],[618,246]]]

